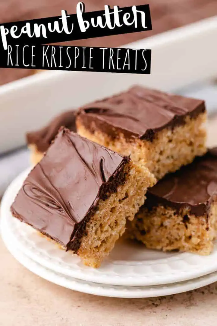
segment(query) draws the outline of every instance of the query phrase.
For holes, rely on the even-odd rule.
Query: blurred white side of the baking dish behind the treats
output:
[[[48,71],[1,86],[0,153],[57,113],[132,84],[172,91],[217,76],[216,37],[217,16],[128,44],[153,50],[151,75]]]

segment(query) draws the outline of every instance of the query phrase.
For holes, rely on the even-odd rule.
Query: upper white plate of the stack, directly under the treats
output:
[[[85,281],[123,286],[148,286],[189,280],[217,271],[217,245],[209,256],[190,253],[163,253],[148,250],[142,244],[119,242],[98,269],[86,267],[71,252],[60,250],[40,237],[28,225],[10,213],[10,205],[29,170],[8,187],[1,205],[4,232],[16,247],[41,265]]]

